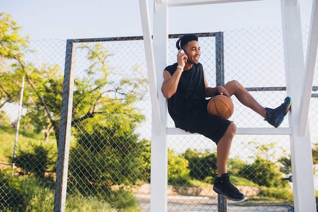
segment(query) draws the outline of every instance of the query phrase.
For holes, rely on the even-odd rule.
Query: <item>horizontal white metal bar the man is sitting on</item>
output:
[[[237,128],[236,135],[291,135],[292,128]],[[200,135],[180,128],[167,128],[167,135]]]

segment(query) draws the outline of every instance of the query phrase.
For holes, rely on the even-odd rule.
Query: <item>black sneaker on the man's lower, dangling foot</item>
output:
[[[230,176],[228,173],[222,174],[221,177],[215,176],[213,190],[224,196],[224,198],[241,201],[245,198],[244,194],[242,194],[233,184],[230,182]]]

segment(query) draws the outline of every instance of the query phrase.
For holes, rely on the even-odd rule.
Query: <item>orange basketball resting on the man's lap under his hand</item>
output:
[[[225,95],[217,95],[212,97],[207,106],[208,113],[228,119],[234,111],[232,100]]]

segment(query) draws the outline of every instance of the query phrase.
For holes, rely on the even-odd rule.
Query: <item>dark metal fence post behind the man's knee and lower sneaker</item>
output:
[[[216,85],[224,86],[224,43],[223,32],[215,33],[215,66],[216,66]],[[227,199],[221,194],[217,194],[217,211],[227,212]]]

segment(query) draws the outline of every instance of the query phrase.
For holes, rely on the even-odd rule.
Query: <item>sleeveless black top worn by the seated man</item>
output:
[[[171,76],[178,64],[166,67]],[[176,93],[168,99],[168,111],[176,127],[187,130],[198,112],[206,111],[203,67],[194,64],[182,72]]]

